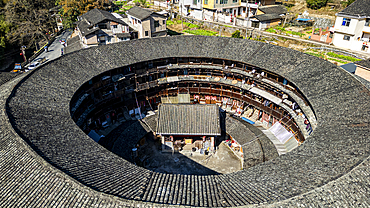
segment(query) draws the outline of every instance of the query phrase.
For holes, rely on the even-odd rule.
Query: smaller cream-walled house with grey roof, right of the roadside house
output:
[[[164,37],[167,35],[167,18],[141,7],[133,7],[127,12],[125,22],[138,32],[138,38]]]

